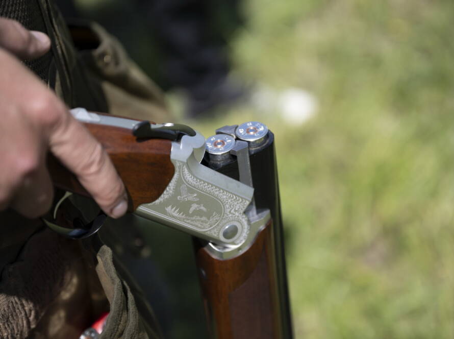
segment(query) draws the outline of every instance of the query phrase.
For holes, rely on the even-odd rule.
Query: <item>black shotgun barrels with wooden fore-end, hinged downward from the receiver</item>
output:
[[[235,126],[225,126],[218,131],[233,135]],[[196,246],[213,337],[293,338],[274,135],[266,131],[259,145],[249,142],[249,161],[257,210],[268,209],[270,222],[249,250],[234,259],[222,262],[211,255],[210,247]],[[233,179],[241,178],[238,157],[206,156],[204,163]]]

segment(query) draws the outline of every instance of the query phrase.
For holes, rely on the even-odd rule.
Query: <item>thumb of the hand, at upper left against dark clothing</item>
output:
[[[0,18],[0,47],[22,59],[36,59],[51,47],[51,39],[37,31],[29,31],[15,20]]]

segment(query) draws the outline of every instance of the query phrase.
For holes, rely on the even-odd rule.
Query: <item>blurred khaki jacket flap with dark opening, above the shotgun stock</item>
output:
[[[89,81],[103,89],[109,113],[156,123],[172,120],[159,87],[115,37],[97,23],[81,20],[71,22],[69,32]]]

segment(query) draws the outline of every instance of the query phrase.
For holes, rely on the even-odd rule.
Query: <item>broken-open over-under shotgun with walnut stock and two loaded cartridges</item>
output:
[[[71,113],[109,154],[127,188],[128,211],[193,236],[211,337],[293,338],[271,131],[249,122],[205,139],[185,125]],[[54,157],[47,165],[55,186],[89,196]],[[75,218],[71,228],[45,223],[84,238],[105,219],[100,212],[91,222]]]

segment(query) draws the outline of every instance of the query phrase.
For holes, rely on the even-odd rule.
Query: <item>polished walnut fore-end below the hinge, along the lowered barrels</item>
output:
[[[281,339],[272,222],[240,256],[219,260],[196,245],[211,337]]]

